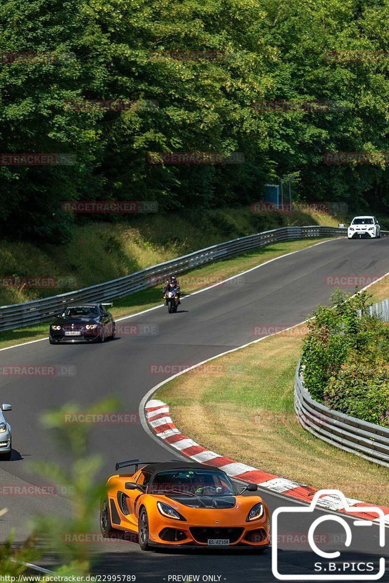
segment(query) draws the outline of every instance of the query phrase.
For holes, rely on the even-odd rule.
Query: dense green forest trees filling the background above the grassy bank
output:
[[[303,199],[387,210],[383,163],[323,156],[387,150],[389,59],[325,54],[385,50],[388,17],[389,0],[3,0],[1,152],[75,163],[0,166],[2,233],[63,240],[75,220],[61,212],[67,200],[157,201],[166,211],[254,202],[266,182],[295,171]],[[174,50],[223,56],[155,58]],[[17,52],[57,57],[4,57]],[[64,105],[72,99],[140,101],[76,111]],[[337,107],[254,111],[255,100]],[[245,161],[163,166],[149,152],[242,152]]]

